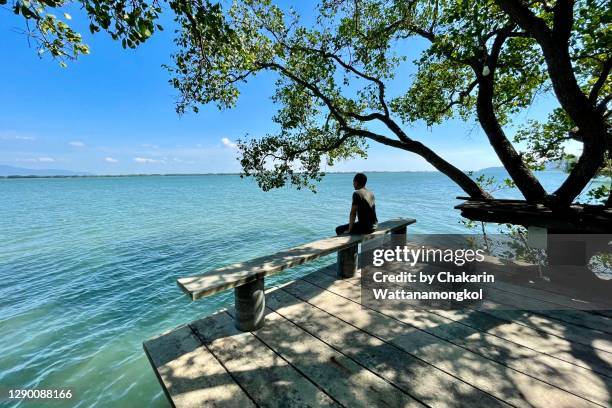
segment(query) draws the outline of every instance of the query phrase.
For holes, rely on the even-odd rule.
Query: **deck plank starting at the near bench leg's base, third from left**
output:
[[[343,406],[423,406],[278,313],[267,311],[266,324],[253,334]]]

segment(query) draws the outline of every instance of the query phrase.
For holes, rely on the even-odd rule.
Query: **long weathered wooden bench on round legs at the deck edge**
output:
[[[341,235],[321,239],[273,255],[215,269],[202,275],[179,278],[177,283],[192,300],[233,288],[236,328],[241,331],[256,330],[264,322],[266,276],[337,252],[338,277],[353,277],[357,271],[357,250],[360,243],[389,233],[399,236],[400,242],[405,243],[406,227],[414,222],[416,222],[414,219],[385,221],[371,234]]]

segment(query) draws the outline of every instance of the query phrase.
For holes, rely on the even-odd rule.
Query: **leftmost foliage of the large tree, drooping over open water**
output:
[[[273,70],[281,74],[273,95],[280,106],[273,121],[281,130],[239,141],[244,174],[254,176],[264,190],[286,182],[314,190],[311,180],[320,180],[322,163],[365,157],[364,139],[343,134],[354,119],[333,114],[362,112],[375,103],[371,86],[353,98],[345,95],[350,75],[327,55],[328,50],[345,47],[339,43],[346,41],[339,33],[298,26],[296,14],[284,13],[266,1],[236,2],[228,19],[217,8],[216,23],[200,26],[202,19],[197,15],[210,10],[209,5],[193,6],[177,17],[184,29],[176,40],[175,66],[169,70],[174,76],[171,83],[180,91],[179,113],[189,108],[197,111],[199,105],[211,102],[220,109],[232,107],[241,82],[260,71]],[[196,29],[193,21],[198,22]],[[339,25],[339,31],[351,29]],[[380,65],[384,59],[373,61],[370,55],[361,54],[372,71],[385,69]],[[343,76],[341,81],[338,75]]]

